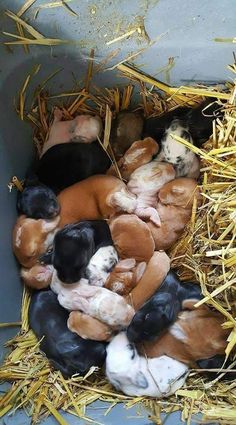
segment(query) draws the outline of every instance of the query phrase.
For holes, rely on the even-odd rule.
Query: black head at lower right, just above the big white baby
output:
[[[151,341],[157,338],[177,317],[177,300],[169,293],[158,294],[136,312],[127,329],[130,342]]]

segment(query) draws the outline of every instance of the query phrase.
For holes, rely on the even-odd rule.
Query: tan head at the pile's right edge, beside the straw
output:
[[[158,197],[162,204],[191,208],[194,197],[200,202],[200,193],[194,179],[180,177],[166,183]]]

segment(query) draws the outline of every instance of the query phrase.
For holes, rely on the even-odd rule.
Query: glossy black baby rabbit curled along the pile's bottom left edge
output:
[[[29,309],[29,323],[55,369],[64,377],[85,374],[91,366],[102,366],[106,358],[106,344],[83,339],[67,327],[69,313],[60,306],[52,291],[33,294]]]

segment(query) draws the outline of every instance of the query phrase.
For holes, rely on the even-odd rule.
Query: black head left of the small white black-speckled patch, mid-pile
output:
[[[94,231],[83,223],[69,224],[54,239],[52,264],[63,283],[75,283],[86,276],[95,252]]]

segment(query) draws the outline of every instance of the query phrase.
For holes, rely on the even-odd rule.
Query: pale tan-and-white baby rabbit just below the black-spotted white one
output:
[[[175,178],[171,164],[151,161],[135,170],[129,179],[127,188],[137,195],[135,214],[143,219],[151,217],[157,226],[161,226],[157,208],[157,193],[162,186]]]

